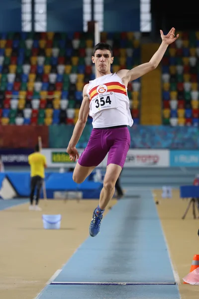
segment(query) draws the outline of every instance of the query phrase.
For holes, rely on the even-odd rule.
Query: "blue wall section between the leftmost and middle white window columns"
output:
[[[47,0],[47,31],[83,31],[83,0]]]

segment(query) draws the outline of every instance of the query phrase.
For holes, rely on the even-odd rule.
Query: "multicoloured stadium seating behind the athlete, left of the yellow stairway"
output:
[[[101,33],[113,46],[112,71],[140,63],[140,34]],[[95,79],[91,33],[0,33],[0,124],[76,124],[85,84]],[[140,80],[128,85],[139,123]],[[92,118],[88,118],[88,123]]]

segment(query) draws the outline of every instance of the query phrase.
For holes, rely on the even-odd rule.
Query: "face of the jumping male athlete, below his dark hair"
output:
[[[96,64],[96,68],[101,73],[110,71],[110,65],[113,62],[113,57],[109,50],[96,50],[95,56],[92,56],[93,63]]]

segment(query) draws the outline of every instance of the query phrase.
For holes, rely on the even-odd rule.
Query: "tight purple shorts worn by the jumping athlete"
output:
[[[79,157],[82,166],[98,166],[108,153],[110,163],[123,167],[130,147],[130,133],[127,127],[93,129],[88,145]]]

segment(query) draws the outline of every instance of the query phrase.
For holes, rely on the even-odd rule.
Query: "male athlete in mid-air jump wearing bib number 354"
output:
[[[157,68],[169,44],[175,37],[175,28],[167,35],[160,30],[162,43],[149,62],[131,70],[110,72],[113,63],[112,48],[106,43],[94,47],[92,61],[95,63],[96,79],[83,89],[83,101],[79,119],[69,142],[67,153],[71,161],[76,161],[73,180],[82,183],[100,162],[107,157],[103,188],[100,192],[98,207],[93,212],[89,232],[95,237],[100,231],[103,212],[114,194],[115,182],[124,165],[130,147],[130,134],[127,126],[133,125],[127,96],[127,85],[144,74]],[[87,123],[88,115],[93,118],[93,130],[86,149],[79,157],[76,145]]]

